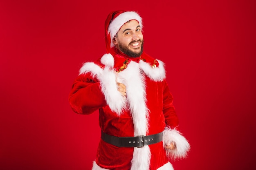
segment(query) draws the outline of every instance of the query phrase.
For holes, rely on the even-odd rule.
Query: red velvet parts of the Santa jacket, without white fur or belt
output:
[[[113,51],[112,51],[113,52]],[[123,65],[127,57],[119,53],[112,53],[115,59],[115,68]],[[118,55],[118,56],[117,56]],[[153,62],[154,59],[146,56],[146,62]],[[132,59],[137,60],[137,59]],[[140,60],[140,59],[139,59]],[[102,65],[100,60],[96,61]],[[158,65],[157,65],[158,66]],[[171,95],[166,81],[154,82],[145,77],[146,84],[146,106],[149,110],[148,134],[152,135],[162,132],[166,126],[171,128],[178,126],[178,118],[173,106]],[[93,78],[90,73],[81,74],[75,80],[70,93],[70,105],[76,113],[90,114],[99,109],[99,126],[103,132],[117,137],[133,137],[134,125],[129,110],[124,110],[121,116],[112,112],[106,104],[104,95],[101,92],[99,81]],[[151,160],[150,170],[156,170],[168,162],[162,142],[150,145]],[[118,148],[100,140],[96,163],[102,168],[111,170],[129,170],[133,156],[133,148]]]

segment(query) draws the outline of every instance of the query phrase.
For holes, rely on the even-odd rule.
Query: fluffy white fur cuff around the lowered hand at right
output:
[[[176,148],[174,150],[166,149],[167,156],[173,159],[186,157],[190,149],[189,142],[179,131],[175,130],[175,128],[171,129],[166,127],[163,133],[164,147],[169,145],[172,141],[175,142]]]

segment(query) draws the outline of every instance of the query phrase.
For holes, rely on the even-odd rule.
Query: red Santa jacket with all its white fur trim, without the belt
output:
[[[116,82],[126,85],[126,99]],[[157,170],[168,157],[185,157],[189,143],[178,131],[178,118],[165,80],[164,63],[146,53],[132,58],[112,48],[80,69],[69,97],[74,112],[99,110],[99,125],[108,135],[133,137],[164,131],[163,141],[142,148],[99,142],[95,170]],[[175,150],[164,146],[174,141]]]

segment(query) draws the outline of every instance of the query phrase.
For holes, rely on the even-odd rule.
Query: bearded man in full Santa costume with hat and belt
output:
[[[92,170],[173,170],[168,160],[190,148],[179,132],[164,63],[143,51],[141,29],[138,13],[112,11],[105,22],[107,53],[86,62],[72,86],[74,112],[99,110]]]

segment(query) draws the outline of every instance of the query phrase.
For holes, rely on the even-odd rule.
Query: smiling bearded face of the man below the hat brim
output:
[[[136,20],[126,22],[117,32],[112,42],[116,48],[130,57],[139,57],[143,52],[143,35]]]

